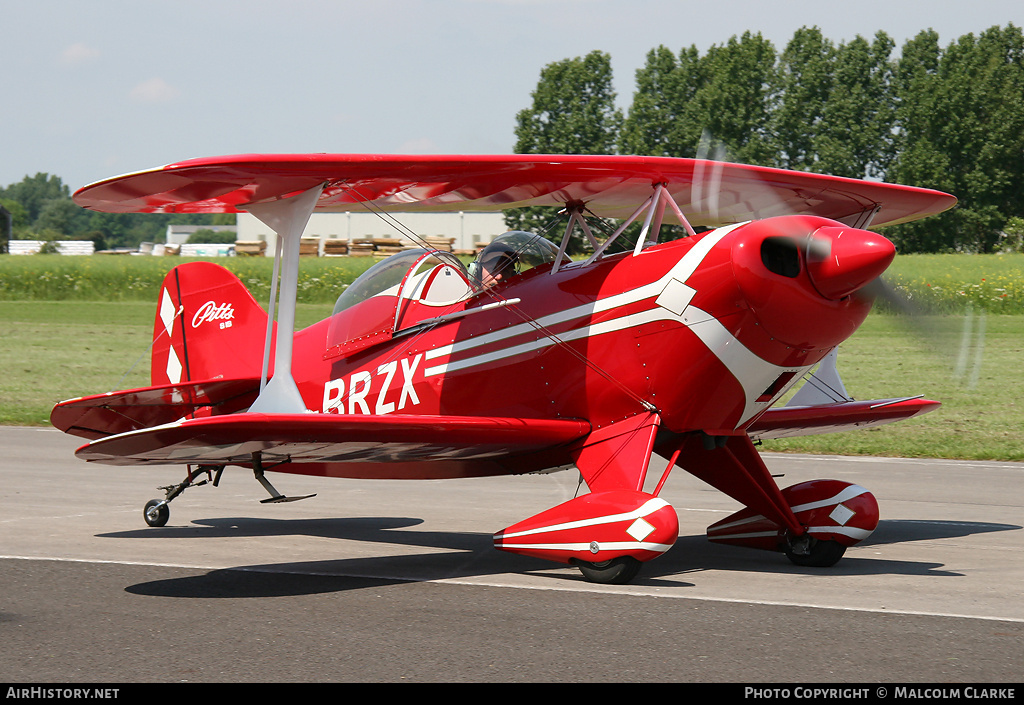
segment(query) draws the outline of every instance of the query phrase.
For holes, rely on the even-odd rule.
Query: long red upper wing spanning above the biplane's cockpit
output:
[[[956,203],[927,189],[671,157],[329,154],[178,162],[85,186],[75,202],[108,212],[237,212],[326,184],[317,210],[368,204],[391,211],[495,211],[579,202],[598,215],[625,218],[656,183],[667,185],[694,225],[782,214],[852,220],[876,208],[871,223],[885,225]]]

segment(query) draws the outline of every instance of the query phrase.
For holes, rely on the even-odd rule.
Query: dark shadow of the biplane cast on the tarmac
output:
[[[307,536],[362,541],[427,549],[410,554],[240,566],[202,575],[157,580],[129,586],[136,594],[174,597],[266,597],[337,592],[425,580],[481,578],[488,575],[528,573],[558,581],[585,583],[575,570],[547,561],[495,550],[489,534],[416,531],[423,524],[411,517],[358,517],[323,520],[213,519],[188,527],[165,527],[104,534],[117,538],[258,538],[261,536]],[[1020,530],[1007,524],[944,521],[881,522],[862,546],[908,541],[937,540],[996,531]],[[343,552],[341,549],[339,552]],[[800,568],[781,553],[712,544],[703,535],[680,536],[664,556],[647,564],[633,581],[635,586],[685,588],[679,576],[707,571],[741,571],[801,575],[809,571],[822,576],[923,575],[956,576],[942,564],[859,557],[847,553],[829,569]]]

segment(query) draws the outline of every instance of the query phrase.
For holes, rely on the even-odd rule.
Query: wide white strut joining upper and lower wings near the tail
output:
[[[274,349],[273,377],[262,387],[259,397],[249,408],[251,412],[300,414],[306,411],[306,404],[292,377],[292,341],[295,337],[295,302],[298,296],[299,244],[302,231],[309,215],[316,207],[324,184],[319,184],[298,195],[244,206],[267,227],[278,234],[278,254],[281,271],[275,273],[271,291],[276,288],[276,276],[281,277],[281,291],[278,301],[278,345]],[[278,267],[274,266],[276,271]],[[271,304],[273,302],[271,301]],[[271,306],[270,318],[273,318]],[[271,328],[267,326],[267,343],[264,347],[263,372],[266,374],[269,358]]]

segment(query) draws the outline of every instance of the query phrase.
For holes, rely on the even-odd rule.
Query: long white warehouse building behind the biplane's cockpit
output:
[[[396,226],[394,221],[400,225]],[[276,234],[261,220],[249,213],[239,213],[238,229],[240,242],[263,241],[267,244],[267,256],[273,256]],[[452,247],[457,251],[475,251],[507,230],[501,212],[388,213],[384,217],[371,212],[313,213],[302,237],[316,238],[321,243],[400,239],[414,244],[409,236],[412,231],[422,238],[452,239]]]

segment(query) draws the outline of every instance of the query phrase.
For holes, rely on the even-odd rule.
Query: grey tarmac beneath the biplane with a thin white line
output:
[[[882,523],[827,570],[711,544],[738,508],[681,470],[680,538],[630,585],[490,536],[578,475],[251,473],[142,505],[175,467],[90,465],[0,427],[0,683],[1001,682],[1024,673],[1024,464],[768,454],[782,486],[871,490]],[[662,470],[652,467],[653,486]]]

